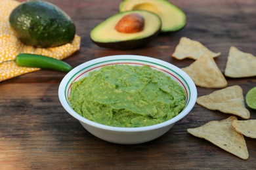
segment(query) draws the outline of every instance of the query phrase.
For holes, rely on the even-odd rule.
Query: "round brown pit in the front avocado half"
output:
[[[144,29],[144,17],[137,13],[123,16],[116,24],[116,31],[120,33],[139,33]]]

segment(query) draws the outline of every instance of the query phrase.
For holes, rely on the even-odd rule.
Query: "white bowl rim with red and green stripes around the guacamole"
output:
[[[179,75],[179,77],[182,79],[182,81],[185,82],[186,86],[188,87],[188,92],[189,93],[189,99],[186,103],[185,108],[177,114],[177,116],[171,118],[170,120],[167,120],[165,122],[161,122],[160,124],[154,124],[152,126],[143,126],[143,127],[115,127],[115,126],[107,126],[104,124],[99,124],[97,122],[93,122],[92,120],[88,120],[87,118],[81,116],[75,110],[72,109],[68,102],[68,97],[67,97],[67,88],[68,84],[71,84],[74,80],[77,80],[77,76],[75,75],[81,75],[82,73],[85,73],[85,69],[88,69],[90,67],[95,67],[95,65],[101,65],[99,67],[102,67],[102,63],[106,63],[108,61],[113,61],[114,63],[120,63],[118,61],[137,61],[139,63],[144,63],[141,65],[145,65],[145,63],[152,63],[155,65],[158,65],[159,68],[165,68],[171,71],[171,73],[175,75]],[[112,64],[114,64],[112,63]],[[125,62],[124,62],[125,63]],[[156,66],[157,67],[157,66]],[[90,69],[88,70],[90,71]],[[163,69],[162,69],[163,71]],[[182,83],[182,82],[181,82]],[[185,88],[185,87],[184,87]],[[77,65],[72,71],[70,71],[67,75],[64,76],[62,81],[60,82],[60,85],[58,87],[58,97],[60,100],[60,103],[62,104],[62,107],[71,114],[74,118],[79,120],[79,122],[83,122],[84,124],[88,124],[90,126],[97,127],[99,129],[105,129],[109,131],[119,131],[119,132],[136,132],[136,131],[150,131],[153,129],[160,129],[165,126],[169,126],[171,124],[174,124],[175,122],[178,122],[184,116],[186,116],[190,110],[193,109],[195,103],[196,103],[196,98],[197,98],[197,89],[196,85],[194,84],[192,78],[188,76],[182,69],[179,69],[179,67],[168,63],[167,61],[163,61],[161,59],[157,58],[151,58],[148,56],[139,56],[139,55],[130,55],[130,54],[123,54],[123,55],[113,55],[113,56],[105,56],[101,58],[96,58],[96,59],[91,59],[89,61],[86,61],[85,63],[81,63],[80,65]]]

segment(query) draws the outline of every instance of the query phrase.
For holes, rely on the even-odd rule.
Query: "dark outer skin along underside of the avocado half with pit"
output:
[[[150,37],[145,37],[143,39],[135,39],[135,40],[129,40],[129,41],[118,41],[118,42],[96,42],[91,39],[96,45],[104,47],[104,48],[111,48],[114,50],[135,50],[137,48],[141,48],[143,46],[146,46],[149,42],[151,42],[153,39],[156,39],[158,37],[158,34],[161,32],[161,27],[156,33],[153,35],[150,35]]]

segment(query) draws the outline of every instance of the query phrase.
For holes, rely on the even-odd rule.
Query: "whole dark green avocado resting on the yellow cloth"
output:
[[[26,45],[54,47],[72,42],[75,25],[61,9],[44,1],[28,1],[12,10],[10,25]]]

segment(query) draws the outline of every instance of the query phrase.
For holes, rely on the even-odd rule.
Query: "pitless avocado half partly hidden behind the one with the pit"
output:
[[[127,10],[148,10],[161,18],[161,32],[179,31],[186,25],[186,14],[167,0],[124,0],[119,12]]]

